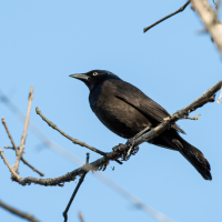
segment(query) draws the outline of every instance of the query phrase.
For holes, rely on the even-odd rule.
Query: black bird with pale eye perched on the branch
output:
[[[144,128],[154,128],[170,114],[134,85],[105,70],[92,70],[70,77],[83,81],[89,90],[92,111],[115,134],[130,139]],[[152,144],[179,151],[205,179],[212,180],[211,167],[203,153],[183,140],[176,124],[149,141]]]

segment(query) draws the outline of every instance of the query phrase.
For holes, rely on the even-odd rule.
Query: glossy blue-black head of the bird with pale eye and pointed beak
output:
[[[118,75],[105,70],[92,70],[81,74],[70,74],[69,77],[75,78],[84,82],[90,91],[107,79],[120,79]]]

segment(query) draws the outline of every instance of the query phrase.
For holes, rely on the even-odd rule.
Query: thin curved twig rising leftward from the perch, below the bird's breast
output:
[[[98,149],[95,149],[95,148],[93,148],[93,147],[91,147],[91,145],[88,145],[88,144],[84,143],[84,142],[81,142],[81,141],[79,141],[79,140],[77,140],[77,139],[74,139],[74,138],[72,138],[72,137],[70,137],[70,135],[68,135],[65,132],[63,132],[62,130],[60,130],[53,122],[49,121],[49,120],[41,113],[41,111],[39,110],[38,107],[36,108],[36,111],[37,111],[37,114],[39,114],[39,115],[42,118],[42,120],[46,121],[46,122],[48,123],[49,127],[51,127],[52,129],[57,130],[59,133],[61,133],[63,137],[65,137],[67,139],[69,139],[70,141],[72,141],[74,144],[79,144],[79,145],[81,145],[81,147],[88,148],[88,149],[90,149],[91,151],[93,151],[93,152],[95,152],[95,153],[99,153],[99,154],[101,154],[101,155],[104,155],[104,157],[107,155],[107,153],[104,153],[104,152],[102,152],[102,151],[100,151],[100,150],[98,150]],[[120,161],[118,161],[118,163],[122,164],[122,162],[120,162]]]

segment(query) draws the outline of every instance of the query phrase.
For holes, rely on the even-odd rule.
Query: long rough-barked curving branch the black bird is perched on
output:
[[[172,122],[178,121],[180,118],[188,117],[188,114],[198,108],[202,107],[203,104],[208,102],[214,101],[214,93],[220,90],[222,85],[222,80],[219,81],[216,84],[211,87],[209,90],[206,90],[200,98],[194,100],[191,104],[186,105],[182,110],[175,112],[174,114],[170,115],[169,118],[165,118],[164,122],[162,122],[160,125],[157,128],[150,130],[149,132],[142,134],[140,138],[137,138],[133,141],[133,145],[139,145],[142,142],[152,140],[153,138],[158,137],[161,134],[164,130],[167,130]],[[132,142],[132,141],[131,141]],[[85,171],[90,170],[98,170],[102,165],[107,163],[108,160],[115,160],[122,157],[123,152],[125,152],[130,148],[129,142],[127,144],[119,144],[113,148],[113,151],[108,153],[105,157],[100,158],[90,164],[84,164],[81,168],[78,168],[77,170],[67,173],[65,175],[54,178],[54,179],[37,179],[37,178],[12,178],[13,181],[17,181],[21,185],[26,184],[40,184],[40,185],[60,185],[62,186],[62,183],[64,182],[70,182],[75,179],[78,175],[82,175]],[[9,167],[9,165],[8,165]]]

